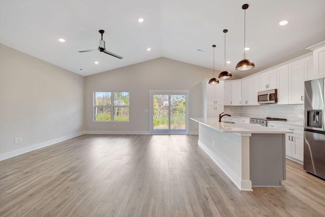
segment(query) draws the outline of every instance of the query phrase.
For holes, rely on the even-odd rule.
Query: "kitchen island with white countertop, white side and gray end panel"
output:
[[[249,123],[190,118],[199,123],[198,144],[242,191],[281,187],[285,180],[285,134]]]

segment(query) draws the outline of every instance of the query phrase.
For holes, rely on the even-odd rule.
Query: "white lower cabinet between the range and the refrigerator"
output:
[[[293,131],[294,133],[285,134],[285,155],[304,161],[304,128],[285,125],[283,123],[278,125],[279,129]]]

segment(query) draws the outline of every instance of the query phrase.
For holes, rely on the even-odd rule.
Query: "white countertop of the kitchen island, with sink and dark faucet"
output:
[[[226,123],[219,122],[218,118],[201,118],[191,117],[191,120],[201,123],[209,128],[218,130],[223,133],[263,133],[263,134],[286,134],[293,131],[280,130],[275,128],[267,128],[249,123]]]

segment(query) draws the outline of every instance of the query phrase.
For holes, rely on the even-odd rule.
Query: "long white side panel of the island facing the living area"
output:
[[[214,141],[214,146],[213,146]],[[200,123],[199,145],[241,190],[251,191],[251,181],[242,189],[242,137],[234,133],[222,133]],[[249,176],[249,174],[248,174]],[[250,187],[249,187],[250,186]]]

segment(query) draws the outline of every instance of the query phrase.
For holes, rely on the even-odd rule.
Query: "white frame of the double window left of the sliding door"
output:
[[[111,93],[111,105],[109,106],[98,106],[96,103],[96,92],[110,92]],[[115,106],[114,105],[114,93],[115,92],[128,92],[128,106]],[[95,117],[95,109],[96,108],[110,108],[111,119],[110,120],[96,120]],[[114,120],[114,108],[128,108],[128,120]],[[129,91],[113,91],[113,90],[101,90],[101,91],[93,91],[92,93],[92,121],[93,122],[129,122],[130,121],[130,92]]]

